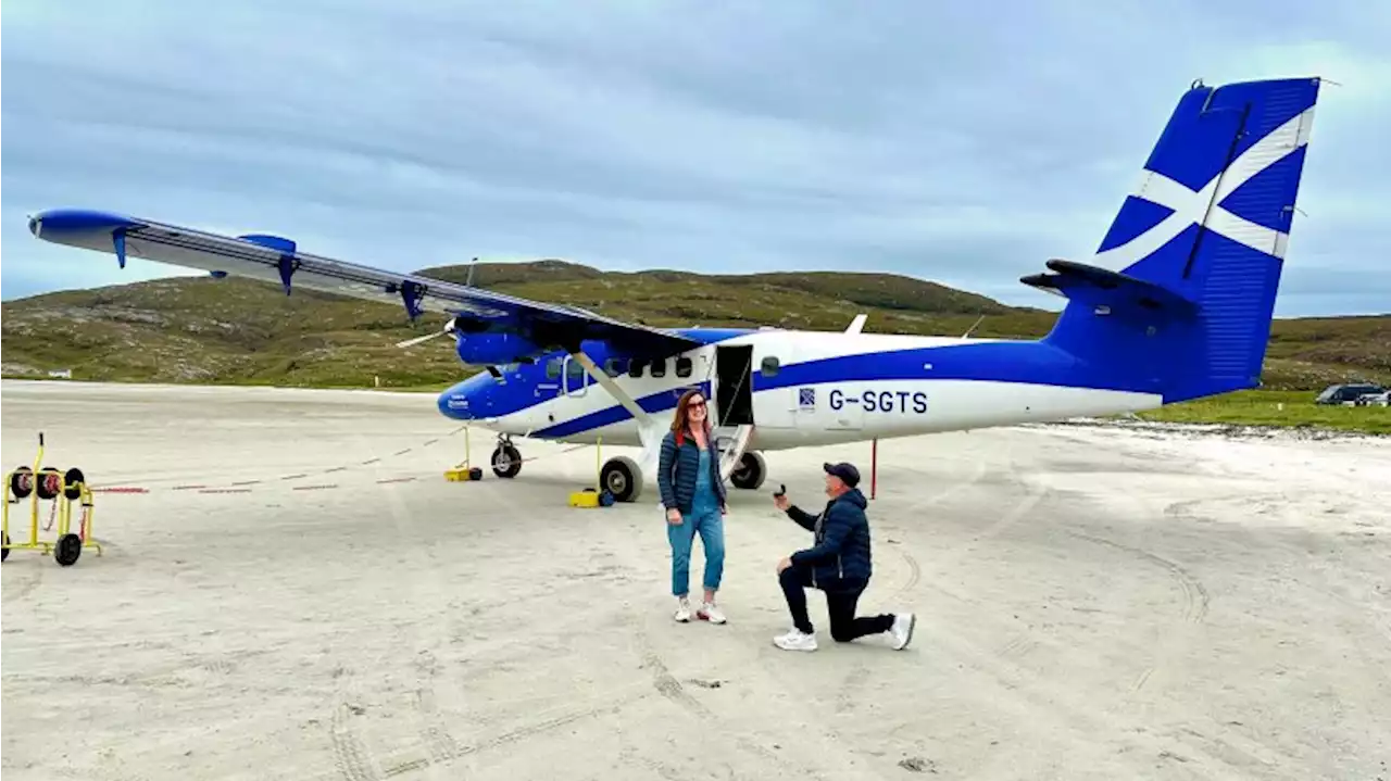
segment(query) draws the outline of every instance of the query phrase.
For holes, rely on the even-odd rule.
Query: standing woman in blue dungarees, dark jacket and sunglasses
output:
[[[672,429],[662,438],[657,485],[666,509],[666,539],[672,543],[672,596],[677,621],[690,621],[691,543],[700,534],[705,548],[705,602],[696,613],[723,624],[715,592],[725,573],[725,484],[719,479],[719,454],[711,436],[709,414],[700,390],[687,390],[676,403]]]

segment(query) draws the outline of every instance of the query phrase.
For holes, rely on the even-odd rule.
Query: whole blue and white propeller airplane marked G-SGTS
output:
[[[403,303],[445,313],[465,364],[485,365],[440,411],[497,432],[492,470],[515,477],[513,436],[641,447],[600,481],[632,502],[657,470],[677,397],[714,402],[723,475],[766,477],[761,452],[1107,416],[1259,385],[1320,82],[1269,79],[1180,97],[1088,263],[1021,278],[1067,299],[1040,339],[926,338],[779,328],[654,328],[300,252],[273,235],[224,236],[90,210],[29,220],[45,240]],[[402,345],[410,345],[412,339]]]

